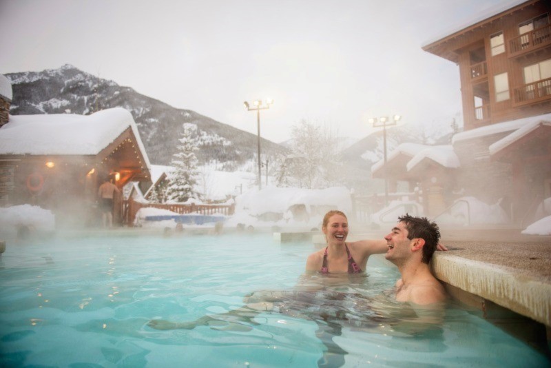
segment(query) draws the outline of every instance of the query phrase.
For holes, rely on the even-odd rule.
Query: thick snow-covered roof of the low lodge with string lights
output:
[[[91,115],[10,115],[0,127],[0,154],[95,155],[132,128],[149,169],[138,127],[132,114],[112,108]]]

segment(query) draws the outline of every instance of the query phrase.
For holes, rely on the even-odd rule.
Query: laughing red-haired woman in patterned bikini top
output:
[[[322,231],[327,246],[308,256],[306,273],[313,274],[359,274],[364,272],[367,260],[372,254],[384,254],[388,244],[381,240],[366,239],[346,243],[349,224],[346,215],[341,211],[329,211],[323,218]],[[438,244],[438,250],[448,250]]]

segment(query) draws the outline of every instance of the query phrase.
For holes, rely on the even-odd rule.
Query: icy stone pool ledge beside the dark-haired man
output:
[[[439,280],[551,326],[551,244],[448,242],[431,266]]]

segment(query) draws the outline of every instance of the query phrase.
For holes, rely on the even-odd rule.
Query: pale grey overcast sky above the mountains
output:
[[[360,139],[369,117],[451,121],[459,68],[421,47],[501,2],[0,0],[0,73],[69,63],[254,134],[243,101],[269,97],[264,138],[309,119]]]

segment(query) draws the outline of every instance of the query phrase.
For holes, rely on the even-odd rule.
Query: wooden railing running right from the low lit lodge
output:
[[[123,203],[123,216],[124,222],[127,226],[134,226],[134,220],[136,214],[141,208],[159,208],[167,209],[168,211],[175,212],[176,214],[200,214],[200,215],[213,215],[221,214],[224,216],[231,216],[235,211],[235,205],[180,205],[180,204],[160,204],[160,203],[141,203],[136,202],[132,198],[129,198]]]

